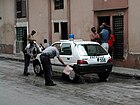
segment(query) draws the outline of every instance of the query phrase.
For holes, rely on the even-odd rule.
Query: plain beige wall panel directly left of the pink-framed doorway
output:
[[[70,0],[71,33],[75,38],[89,40],[93,26],[93,0]]]

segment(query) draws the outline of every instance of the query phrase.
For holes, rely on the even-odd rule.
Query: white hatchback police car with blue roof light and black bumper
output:
[[[96,73],[100,80],[106,80],[112,71],[112,58],[97,42],[79,40],[60,40],[52,45],[59,45],[60,56],[65,64],[70,65],[75,74]],[[33,61],[34,72],[43,73],[40,54]],[[62,65],[57,58],[51,60],[54,65]],[[75,76],[74,76],[75,77]],[[70,78],[74,80],[74,78]]]

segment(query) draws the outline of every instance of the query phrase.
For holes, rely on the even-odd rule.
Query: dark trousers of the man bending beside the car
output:
[[[44,71],[45,84],[53,83],[52,80],[52,64],[47,55],[40,55],[41,64]]]

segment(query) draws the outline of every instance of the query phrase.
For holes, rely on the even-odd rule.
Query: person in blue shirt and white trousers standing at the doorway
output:
[[[109,46],[108,46],[109,30],[108,30],[106,24],[102,24],[100,38],[101,38],[101,46],[106,50],[106,52],[108,52],[108,49],[109,49]]]

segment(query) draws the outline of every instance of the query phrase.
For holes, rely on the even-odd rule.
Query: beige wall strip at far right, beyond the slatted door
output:
[[[140,54],[140,0],[129,0],[129,52]]]

